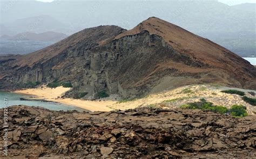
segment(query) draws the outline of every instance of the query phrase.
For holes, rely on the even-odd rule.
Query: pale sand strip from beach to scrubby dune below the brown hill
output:
[[[228,87],[210,86],[210,85],[190,85],[172,89],[169,91],[147,95],[144,98],[134,100],[112,101],[112,100],[82,100],[82,99],[62,99],[62,96],[70,88],[57,87],[57,88],[31,88],[15,93],[30,94],[35,96],[34,99],[42,99],[47,101],[54,101],[64,103],[66,105],[72,105],[79,108],[91,110],[91,111],[105,111],[111,110],[126,110],[134,109],[137,107],[161,107],[161,108],[178,108],[186,103],[199,101],[201,98],[212,102],[214,105],[225,106],[230,108],[233,105],[246,106],[247,112],[251,115],[255,115],[256,108],[246,103],[241,99],[241,96],[237,94],[227,94],[220,92]],[[240,90],[240,89],[239,89]],[[246,90],[242,90],[245,91]],[[248,96],[250,94],[247,93]],[[253,96],[250,96],[254,98]]]

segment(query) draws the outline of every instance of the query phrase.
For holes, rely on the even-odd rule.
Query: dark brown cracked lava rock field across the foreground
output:
[[[156,108],[78,113],[11,106],[8,112],[11,158],[256,157],[255,116]]]

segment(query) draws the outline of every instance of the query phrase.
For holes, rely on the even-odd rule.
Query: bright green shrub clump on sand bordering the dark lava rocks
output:
[[[201,109],[209,110],[215,113],[221,114],[231,114],[234,117],[243,117],[247,116],[246,107],[234,105],[230,109],[224,106],[213,106],[213,103],[207,102],[205,99],[201,99],[199,102],[188,103],[186,105],[180,106],[182,109]]]

